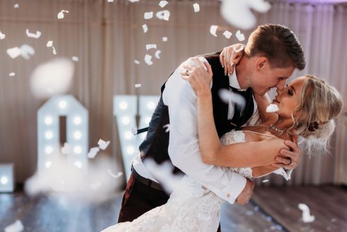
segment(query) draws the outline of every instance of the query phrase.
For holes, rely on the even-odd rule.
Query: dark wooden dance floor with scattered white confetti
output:
[[[96,232],[117,222],[122,194],[99,204],[23,192],[0,194],[0,231],[17,219],[30,232]],[[309,206],[314,222],[304,223],[298,204]],[[331,187],[258,187],[246,206],[223,204],[223,232],[347,231],[347,190]]]

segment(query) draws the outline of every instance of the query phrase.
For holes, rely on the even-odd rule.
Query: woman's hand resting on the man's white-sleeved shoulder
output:
[[[185,65],[180,73],[182,78],[189,81],[196,94],[211,92],[212,68],[209,63],[202,62],[199,58],[192,58],[195,66]]]

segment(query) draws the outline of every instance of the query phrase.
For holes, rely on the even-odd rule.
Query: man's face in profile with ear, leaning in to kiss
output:
[[[283,90],[287,79],[293,74],[295,67],[271,67],[266,58],[260,58],[255,63],[255,72],[251,78],[251,87],[256,94],[263,95],[271,88]]]

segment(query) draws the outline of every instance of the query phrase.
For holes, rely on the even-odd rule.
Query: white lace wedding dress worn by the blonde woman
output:
[[[230,131],[222,136],[221,144],[245,142],[243,131]],[[251,167],[230,168],[248,179],[252,178]],[[216,180],[217,181],[217,180]],[[167,204],[153,208],[133,222],[110,226],[102,232],[211,232],[219,226],[219,211],[223,199],[184,176],[178,188],[172,192]]]

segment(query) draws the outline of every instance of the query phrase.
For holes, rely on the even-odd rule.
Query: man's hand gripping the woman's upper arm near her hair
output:
[[[276,157],[278,163],[274,163],[275,167],[284,167],[285,169],[295,169],[300,163],[301,152],[298,147],[298,136],[293,138],[294,142],[285,140],[285,145],[289,147],[289,151],[286,149],[280,150],[280,155]]]

